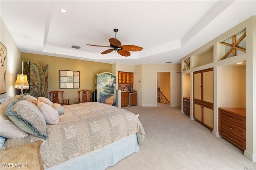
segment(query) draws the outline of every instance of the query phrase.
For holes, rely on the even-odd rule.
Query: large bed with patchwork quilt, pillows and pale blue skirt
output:
[[[41,140],[40,154],[49,170],[106,169],[137,152],[145,138],[134,113],[98,102],[56,107],[47,98],[24,94],[1,104],[1,119],[3,110],[24,133],[20,139],[2,134],[1,120],[1,136],[7,137],[3,149]]]

